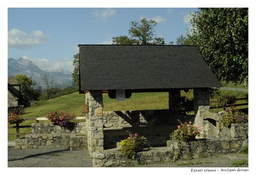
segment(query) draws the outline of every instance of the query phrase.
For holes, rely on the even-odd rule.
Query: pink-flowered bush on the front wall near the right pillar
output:
[[[189,138],[200,136],[202,131],[198,126],[195,126],[191,121],[189,123],[182,123],[180,120],[178,129],[175,130],[171,135],[170,139],[177,141],[187,141]]]

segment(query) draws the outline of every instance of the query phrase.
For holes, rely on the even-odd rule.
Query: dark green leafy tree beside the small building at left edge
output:
[[[20,84],[20,94],[23,101],[37,100],[41,94],[41,86],[37,86],[37,83],[25,74],[17,74],[14,78]]]

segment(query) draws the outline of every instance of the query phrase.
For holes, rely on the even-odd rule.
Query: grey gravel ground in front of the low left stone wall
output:
[[[8,167],[93,167],[88,151],[8,148]]]

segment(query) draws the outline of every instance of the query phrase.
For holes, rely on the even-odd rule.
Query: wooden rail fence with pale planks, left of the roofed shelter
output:
[[[76,117],[76,120],[82,120],[82,119],[86,119],[86,117]],[[39,123],[40,120],[48,120],[48,119],[46,117],[36,117],[36,118],[26,118],[24,120],[25,121],[35,120],[36,123]],[[16,138],[18,139],[20,135],[32,134],[31,132],[30,133],[19,133],[20,128],[31,128],[31,127],[32,127],[31,125],[19,126],[19,123],[16,123],[16,126],[8,127],[8,129],[16,128],[16,133],[8,134],[8,136],[16,136]]]

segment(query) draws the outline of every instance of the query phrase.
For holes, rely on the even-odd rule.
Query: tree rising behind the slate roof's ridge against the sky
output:
[[[140,21],[132,21],[130,23],[129,35],[128,36],[119,36],[113,37],[113,44],[141,44],[141,45],[160,45],[165,44],[164,38],[156,37],[155,29],[157,22],[146,18],[141,19]],[[172,43],[172,42],[170,42]]]

